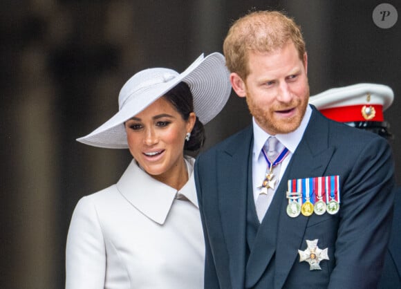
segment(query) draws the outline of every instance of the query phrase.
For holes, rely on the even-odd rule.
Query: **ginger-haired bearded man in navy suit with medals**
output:
[[[205,288],[375,288],[392,218],[389,144],[308,104],[304,39],[281,12],[237,20],[224,54],[253,121],[196,161]]]

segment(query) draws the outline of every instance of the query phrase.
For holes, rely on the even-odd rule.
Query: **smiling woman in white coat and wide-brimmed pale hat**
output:
[[[66,288],[203,288],[204,241],[192,174],[203,124],[223,109],[231,86],[220,53],[183,73],[149,68],[133,75],[119,111],[83,138],[129,149],[118,183],[75,207],[66,245]]]

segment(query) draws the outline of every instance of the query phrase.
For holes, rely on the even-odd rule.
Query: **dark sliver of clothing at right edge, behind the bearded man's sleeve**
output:
[[[401,288],[401,187],[398,187],[397,191],[395,191],[394,218],[389,248],[387,248],[382,279],[380,279],[378,288]]]

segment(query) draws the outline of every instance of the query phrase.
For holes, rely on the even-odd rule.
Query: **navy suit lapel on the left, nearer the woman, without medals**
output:
[[[218,202],[223,234],[230,255],[233,288],[243,288],[245,279],[246,205],[252,163],[252,127],[245,129],[217,156]],[[245,164],[245,165],[244,165]]]

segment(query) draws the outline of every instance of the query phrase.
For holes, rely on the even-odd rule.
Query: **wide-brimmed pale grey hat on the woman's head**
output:
[[[124,122],[185,82],[194,97],[194,112],[206,124],[225,106],[231,93],[230,73],[221,53],[199,56],[183,73],[169,68],[149,68],[133,75],[118,95],[119,111],[95,131],[77,141],[93,147],[127,149]]]

